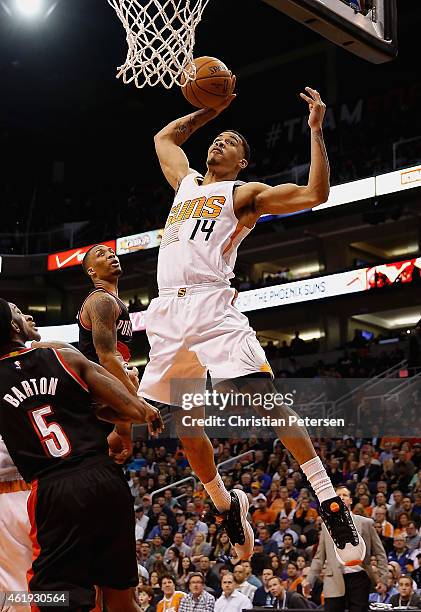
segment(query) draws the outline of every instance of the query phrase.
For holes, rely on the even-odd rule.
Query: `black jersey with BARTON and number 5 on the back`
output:
[[[54,349],[0,357],[0,435],[28,482],[108,454],[86,384]]]

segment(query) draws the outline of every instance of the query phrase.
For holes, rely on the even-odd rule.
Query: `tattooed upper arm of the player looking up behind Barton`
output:
[[[90,306],[92,339],[98,355],[115,353],[117,348],[115,304],[106,295],[97,297]]]

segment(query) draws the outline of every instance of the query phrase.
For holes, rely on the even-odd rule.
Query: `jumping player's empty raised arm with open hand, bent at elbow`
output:
[[[320,94],[310,87],[306,87],[306,94],[300,96],[308,103],[311,129],[311,164],[308,183],[305,186],[292,183],[268,187],[262,183],[249,183],[243,189],[251,193],[254,201],[256,217],[264,214],[287,214],[313,208],[329,197],[329,160],[323,140],[323,118],[326,105]]]

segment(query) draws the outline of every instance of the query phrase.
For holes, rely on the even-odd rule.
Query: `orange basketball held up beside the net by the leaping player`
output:
[[[181,91],[190,104],[197,108],[216,108],[232,94],[232,72],[216,57],[198,57],[194,64],[196,78],[186,85],[183,77]]]

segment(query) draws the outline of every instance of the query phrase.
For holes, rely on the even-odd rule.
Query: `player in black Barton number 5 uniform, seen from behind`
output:
[[[159,411],[74,350],[25,348],[30,332],[0,299],[0,435],[32,485],[29,590],[69,591],[68,609],[86,612],[96,584],[109,612],[139,612],[132,497],[97,414],[152,431],[154,421],[162,428]]]

